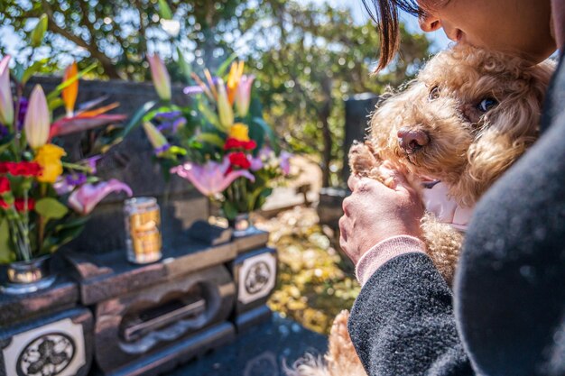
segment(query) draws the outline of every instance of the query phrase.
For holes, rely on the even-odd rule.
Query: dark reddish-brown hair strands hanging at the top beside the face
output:
[[[398,22],[398,10],[421,16],[425,13],[416,0],[362,0],[369,16],[375,21],[381,40],[381,51],[379,62],[375,69],[378,72],[384,69],[394,58],[394,54],[400,45],[400,24]],[[373,9],[368,3],[372,3]],[[449,0],[429,0],[428,10],[432,6],[440,6],[449,3]]]

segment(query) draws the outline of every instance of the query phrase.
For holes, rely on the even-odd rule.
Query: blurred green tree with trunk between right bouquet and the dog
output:
[[[379,46],[372,24],[356,25],[349,12],[329,5],[283,0],[265,0],[255,12],[269,20],[250,45],[269,120],[292,149],[320,156],[324,187],[336,185],[338,174],[332,172],[342,167],[344,100],[380,94],[411,78],[430,42],[402,29],[400,58],[370,77]]]

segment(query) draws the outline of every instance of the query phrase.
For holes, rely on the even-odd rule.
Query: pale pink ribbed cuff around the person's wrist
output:
[[[425,252],[425,250],[424,243],[413,236],[400,235],[384,239],[384,241],[375,244],[357,262],[357,280],[363,286],[366,280],[371,278],[384,262],[403,253]]]

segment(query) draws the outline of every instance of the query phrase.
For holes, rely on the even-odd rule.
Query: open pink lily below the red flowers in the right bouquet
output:
[[[224,159],[222,163],[208,160],[204,165],[187,162],[181,166],[171,169],[171,173],[187,179],[204,196],[214,196],[223,192],[237,178],[244,177],[255,181],[255,177],[248,170],[229,169],[229,160]]]

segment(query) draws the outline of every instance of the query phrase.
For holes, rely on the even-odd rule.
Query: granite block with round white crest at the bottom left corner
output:
[[[87,308],[2,328],[0,376],[55,374],[50,373],[53,370],[85,376],[92,363],[93,342],[92,313]]]

